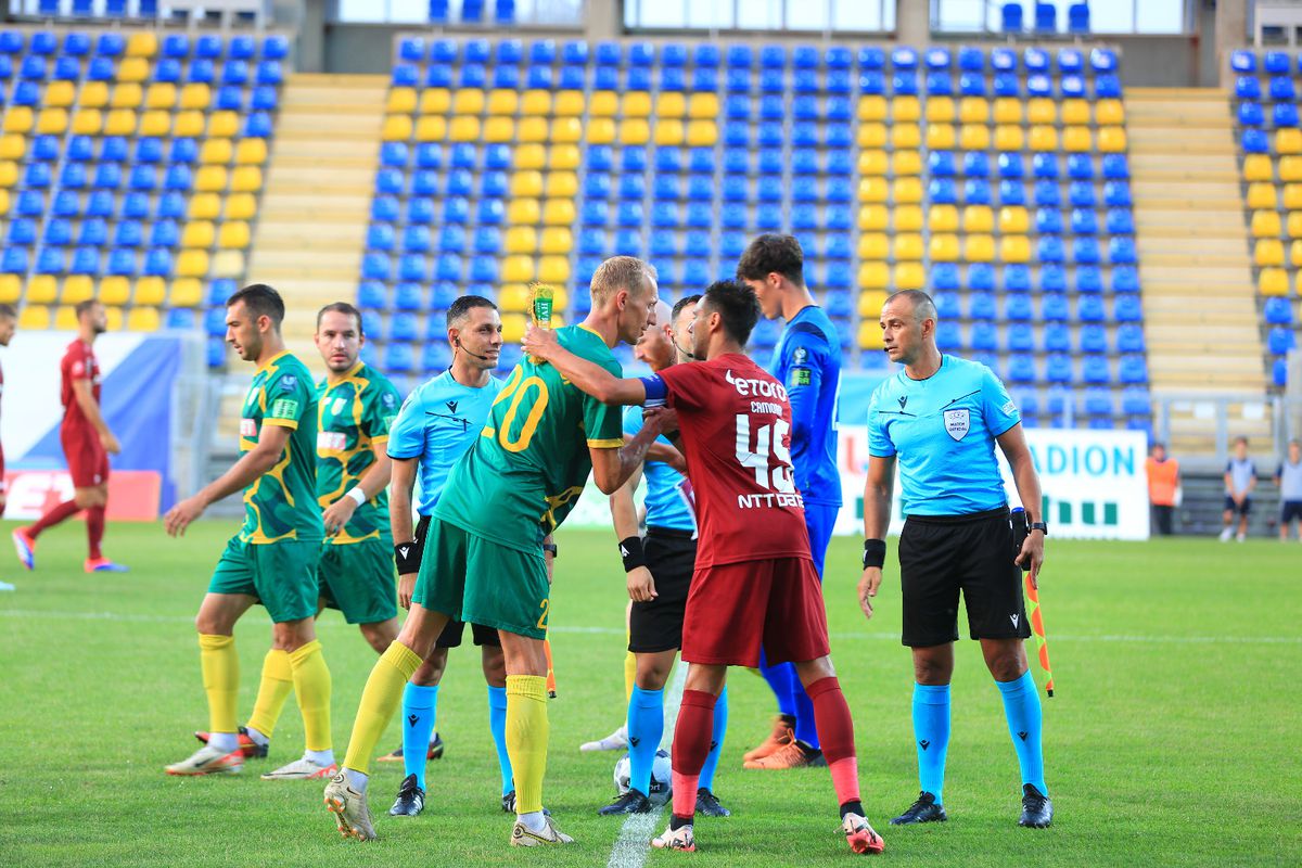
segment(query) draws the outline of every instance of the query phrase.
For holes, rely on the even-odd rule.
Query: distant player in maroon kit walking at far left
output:
[[[59,440],[73,478],[73,498],[59,504],[31,527],[13,532],[18,560],[29,570],[36,566],[36,537],[42,531],[86,510],[86,536],[90,552],[87,573],[125,573],[126,567],[104,557],[104,509],[108,505],[108,454],[122,450],[99,410],[99,362],[92,345],[108,329],[108,316],[98,301],[77,305],[77,340],[68,345],[59,364],[62,375],[64,420]]]

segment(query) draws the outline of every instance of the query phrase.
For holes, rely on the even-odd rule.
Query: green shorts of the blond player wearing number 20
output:
[[[411,601],[457,621],[547,638],[551,588],[538,554],[486,540],[434,518]]]

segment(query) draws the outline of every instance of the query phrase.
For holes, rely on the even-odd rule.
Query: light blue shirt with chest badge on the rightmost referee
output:
[[[894,455],[905,515],[967,515],[1008,505],[995,437],[1022,420],[980,362],[941,355],[926,380],[900,371],[874,390],[868,454]]]

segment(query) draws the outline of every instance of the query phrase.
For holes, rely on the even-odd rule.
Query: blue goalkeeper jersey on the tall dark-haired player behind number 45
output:
[[[792,402],[792,465],[809,504],[841,505],[836,471],[836,410],[841,340],[823,308],[810,305],[786,323],[768,366]]]

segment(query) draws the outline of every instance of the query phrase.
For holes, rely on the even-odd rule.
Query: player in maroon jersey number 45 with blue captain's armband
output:
[[[796,664],[814,701],[846,841],[855,852],[881,852],[881,838],[863,819],[854,724],[828,656],[789,452],[792,406],[783,384],[743,351],[759,315],[749,286],[712,284],[691,327],[693,355],[704,360],[639,380],[579,359],[546,329],[530,328],[523,349],[604,403],[665,403],[677,413],[700,532],[682,625],[682,658],[691,668],[673,739],[673,816],[651,843],[695,850],[697,777],[710,751],[715,699],[728,666],[756,666],[763,647],[769,662]]]

